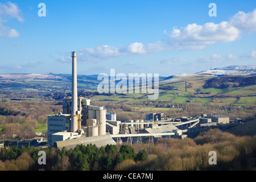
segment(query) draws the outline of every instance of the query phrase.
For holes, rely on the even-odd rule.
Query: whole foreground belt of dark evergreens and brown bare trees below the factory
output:
[[[39,165],[38,152],[46,152]],[[209,164],[215,151],[216,164]],[[255,171],[256,135],[235,136],[210,129],[196,138],[162,138],[153,144],[77,145],[64,148],[10,147],[0,152],[0,171]]]

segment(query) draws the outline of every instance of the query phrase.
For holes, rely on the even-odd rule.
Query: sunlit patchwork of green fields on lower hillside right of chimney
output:
[[[216,89],[216,88],[208,88],[202,89],[201,92],[209,92],[210,94],[206,94],[203,96],[193,96],[191,97],[189,92],[184,92],[180,90],[164,90],[159,93],[158,99],[154,101],[166,101],[172,103],[183,103],[187,102],[189,98],[191,98],[192,102],[196,102],[202,105],[210,104],[210,105],[246,105],[246,104],[254,104],[256,97],[256,85],[246,86],[243,88],[232,88],[232,90],[228,91],[228,89]],[[178,96],[177,96],[178,95]],[[231,96],[231,97],[230,97]],[[242,96],[240,101],[237,102],[237,97]],[[250,97],[243,97],[250,96]],[[204,98],[205,97],[205,98]],[[213,98],[215,99],[213,100]],[[218,98],[221,97],[221,98]],[[117,101],[117,102],[143,102],[148,100],[148,96],[146,94],[138,94],[138,93],[130,93],[125,94],[125,96],[121,94],[113,94],[112,96],[94,96],[91,97],[92,101]],[[213,101],[213,102],[212,102]]]

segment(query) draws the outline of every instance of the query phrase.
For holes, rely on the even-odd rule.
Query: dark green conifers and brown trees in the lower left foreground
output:
[[[39,151],[46,152],[46,165],[40,165]],[[141,150],[135,153],[134,148],[128,145],[121,147],[107,144],[106,147],[98,148],[95,144],[77,145],[67,150],[36,147],[10,147],[0,151],[0,171],[18,170],[46,170],[46,171],[89,171],[89,170],[113,170],[123,160],[143,162],[147,160],[147,152]]]

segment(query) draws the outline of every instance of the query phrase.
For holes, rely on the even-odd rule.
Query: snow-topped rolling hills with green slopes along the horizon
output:
[[[221,71],[218,75],[216,71]],[[246,73],[246,74],[245,74]],[[233,65],[199,73],[184,73],[159,78],[160,102],[198,103],[209,105],[245,106],[256,104],[256,65]],[[70,74],[0,74],[0,90],[5,92],[71,93]],[[117,101],[134,103],[147,101],[148,94],[123,93],[99,94],[97,75],[77,75],[79,96],[92,101]],[[1,93],[0,93],[1,94]],[[10,94],[10,93],[6,93]],[[4,97],[4,94],[2,95]]]

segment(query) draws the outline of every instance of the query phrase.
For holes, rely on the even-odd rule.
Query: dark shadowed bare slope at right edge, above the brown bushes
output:
[[[231,129],[225,130],[225,132],[234,135],[256,135],[256,119],[247,121],[241,125],[232,127]]]

